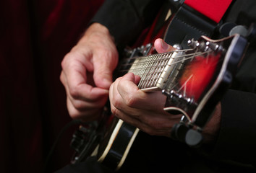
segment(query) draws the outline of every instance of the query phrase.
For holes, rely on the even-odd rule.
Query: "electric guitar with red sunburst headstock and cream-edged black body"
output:
[[[166,30],[168,32],[168,30]],[[159,35],[157,36],[159,37]],[[189,40],[189,48],[155,53],[152,44],[129,51],[119,65],[119,74],[132,72],[141,77],[144,92],[161,90],[166,94],[164,110],[187,117],[187,124],[203,129],[210,115],[229,88],[247,40],[232,35],[221,40],[202,36]],[[102,164],[118,170],[123,164],[139,129],[105,111],[101,122],[80,126],[72,143],[72,163],[95,155]]]

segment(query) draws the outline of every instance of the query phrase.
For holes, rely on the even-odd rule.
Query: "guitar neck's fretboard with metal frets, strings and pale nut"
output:
[[[135,60],[129,65],[128,72],[140,76],[138,87],[145,92],[163,89],[167,85],[171,89],[171,86],[175,85],[175,79],[184,66],[184,62],[202,54],[201,52],[189,53],[189,51],[175,50],[168,53],[134,57]]]

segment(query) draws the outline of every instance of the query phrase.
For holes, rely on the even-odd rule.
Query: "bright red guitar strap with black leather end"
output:
[[[171,20],[165,40],[170,45],[188,48],[187,40],[210,37],[221,25],[221,18],[232,0],[185,0]]]

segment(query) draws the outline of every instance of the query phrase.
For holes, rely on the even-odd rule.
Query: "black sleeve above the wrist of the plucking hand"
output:
[[[91,22],[105,25],[116,45],[127,45],[153,22],[162,4],[163,0],[106,0]]]

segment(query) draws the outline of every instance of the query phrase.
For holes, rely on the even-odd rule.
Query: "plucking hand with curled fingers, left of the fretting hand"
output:
[[[61,62],[72,118],[94,120],[101,114],[117,62],[114,39],[106,27],[94,23]]]

